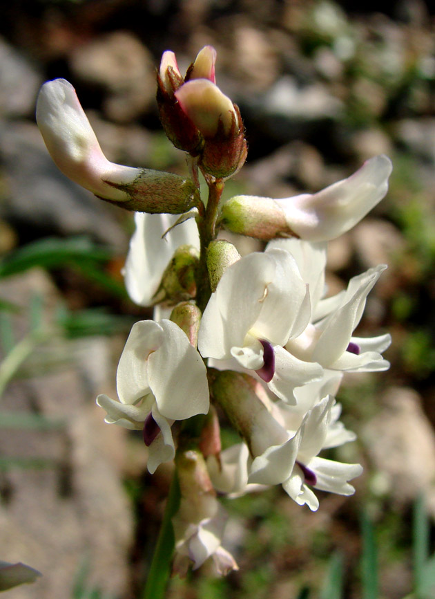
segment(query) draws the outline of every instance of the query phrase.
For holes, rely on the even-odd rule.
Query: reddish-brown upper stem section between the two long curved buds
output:
[[[207,248],[209,243],[216,237],[216,219],[224,181],[222,178],[206,176],[209,186],[209,199],[203,218],[198,223],[200,233],[200,264],[196,271],[196,303],[203,312],[211,295],[209,271],[207,270]]]

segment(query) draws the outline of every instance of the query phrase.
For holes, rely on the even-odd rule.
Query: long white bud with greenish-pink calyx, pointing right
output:
[[[330,241],[349,231],[383,199],[391,172],[391,160],[380,155],[316,194],[276,200],[235,196],[222,206],[222,224],[264,241],[290,235]]]

